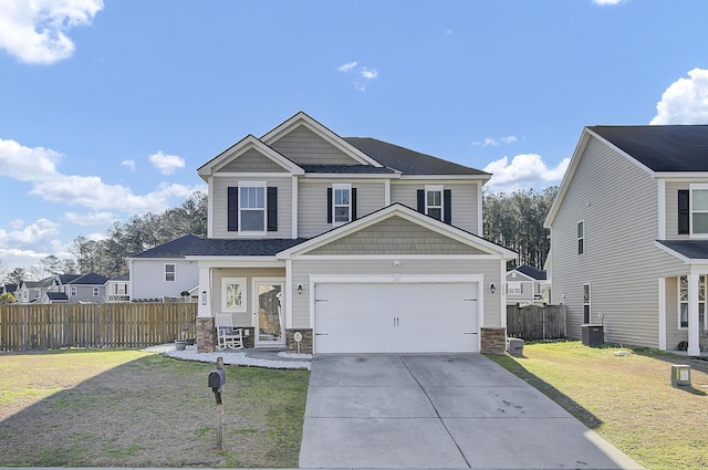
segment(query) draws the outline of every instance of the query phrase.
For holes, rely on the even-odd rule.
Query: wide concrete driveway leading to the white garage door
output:
[[[315,356],[300,468],[642,469],[479,354]]]

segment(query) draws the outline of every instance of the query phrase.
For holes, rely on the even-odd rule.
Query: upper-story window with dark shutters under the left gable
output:
[[[278,231],[278,187],[264,181],[240,181],[227,194],[227,229],[246,236]]]

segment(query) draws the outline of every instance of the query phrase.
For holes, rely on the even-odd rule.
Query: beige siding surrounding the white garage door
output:
[[[301,258],[293,260],[293,293],[292,312],[293,327],[310,327],[310,275],[391,275],[395,273],[404,275],[433,275],[436,274],[467,274],[483,275],[485,280],[479,286],[480,296],[483,295],[483,312],[480,309],[479,325],[481,327],[502,327],[501,325],[501,295],[497,291],[492,294],[487,288],[490,283],[500,285],[502,262],[499,260],[402,260],[394,267],[391,260],[317,260]],[[302,284],[304,290],[301,295],[294,289]],[[366,295],[366,292],[362,292]]]

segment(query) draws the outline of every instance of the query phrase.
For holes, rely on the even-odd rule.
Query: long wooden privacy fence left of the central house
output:
[[[0,305],[0,351],[142,347],[196,336],[195,303]]]

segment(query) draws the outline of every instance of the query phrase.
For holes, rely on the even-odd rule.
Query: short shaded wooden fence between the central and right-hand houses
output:
[[[527,341],[565,337],[565,305],[507,305],[507,336]]]

